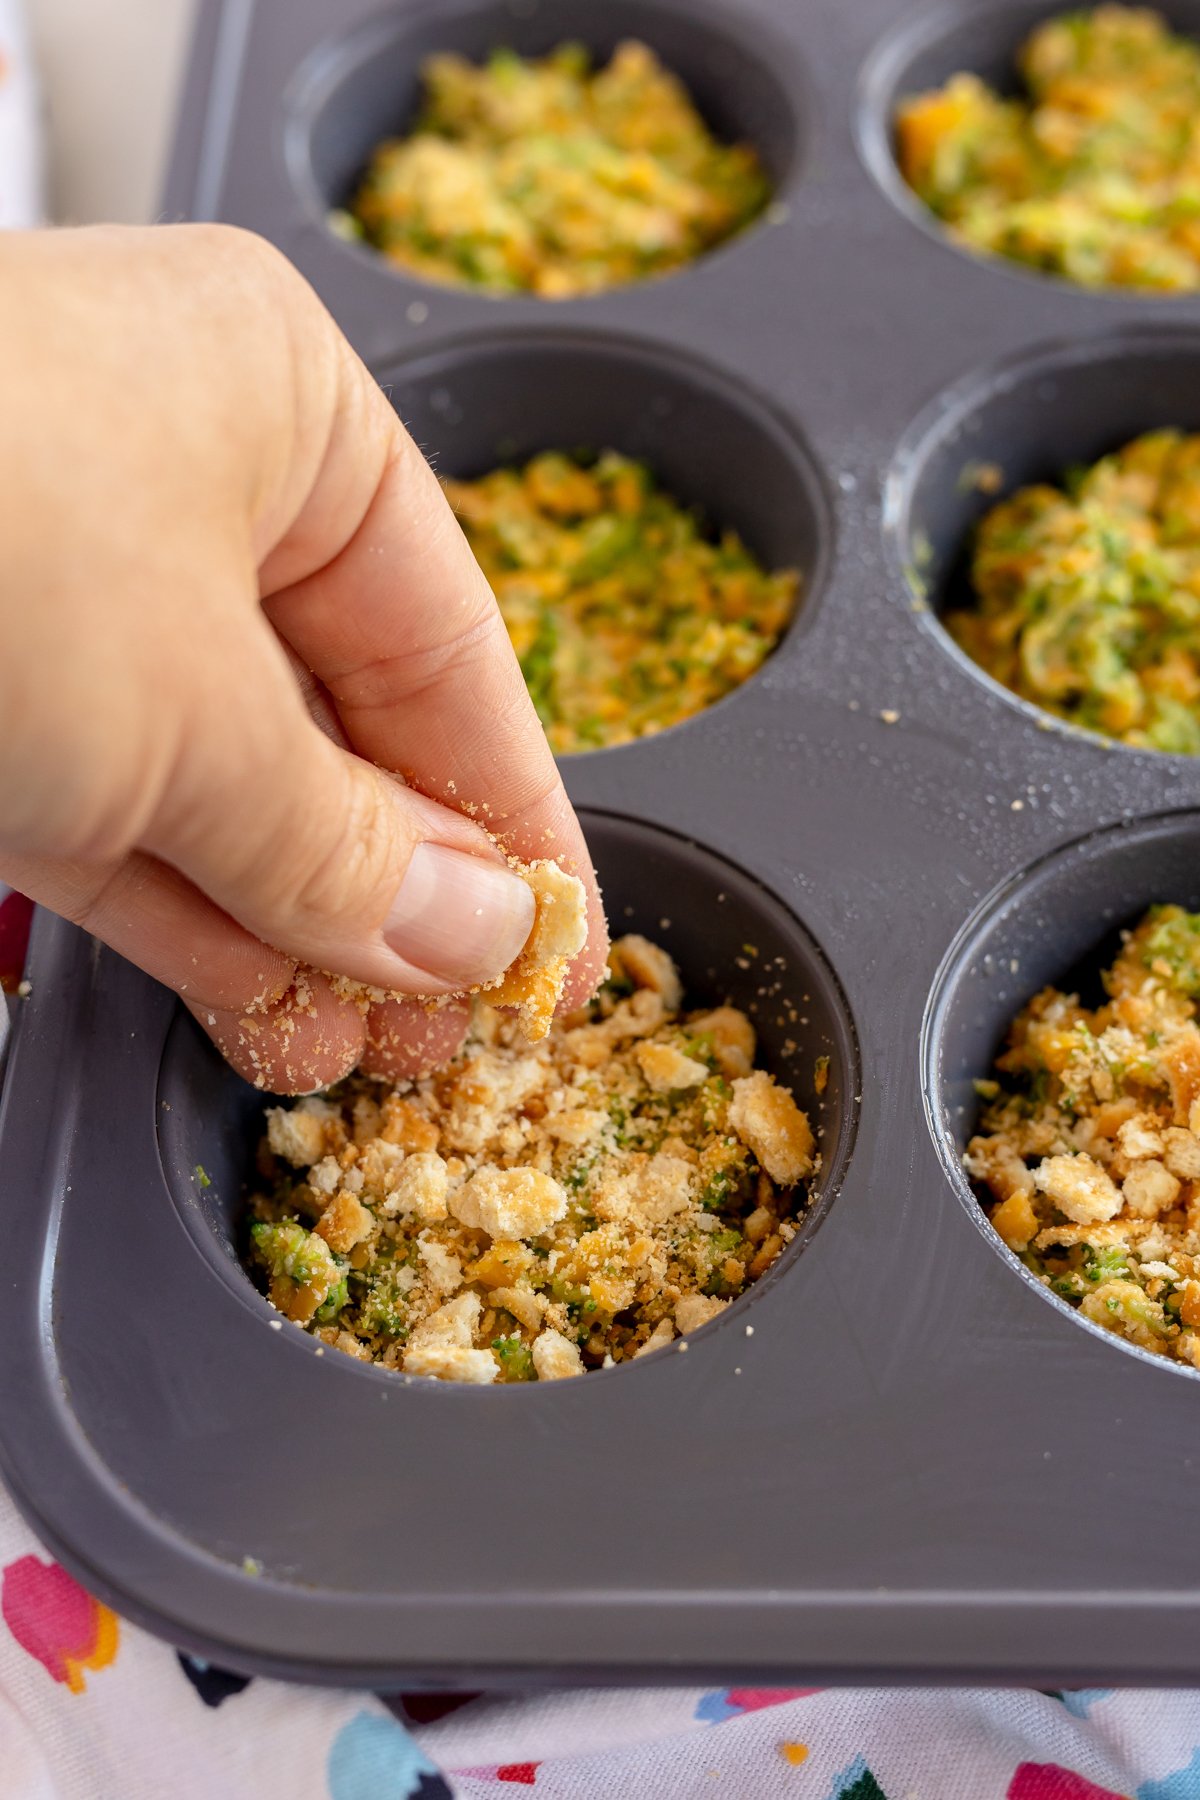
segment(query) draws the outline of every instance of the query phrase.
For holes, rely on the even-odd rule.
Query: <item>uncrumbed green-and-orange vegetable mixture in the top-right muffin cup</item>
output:
[[[973,250],[1088,288],[1200,286],[1200,45],[1144,7],[1063,13],[1018,54],[903,101],[900,169]]]

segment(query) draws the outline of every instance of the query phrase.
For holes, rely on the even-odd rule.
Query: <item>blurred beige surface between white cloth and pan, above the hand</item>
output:
[[[58,223],[158,212],[194,0],[25,0]]]

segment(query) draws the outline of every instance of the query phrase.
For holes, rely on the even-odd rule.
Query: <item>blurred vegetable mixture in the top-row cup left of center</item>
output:
[[[421,81],[416,130],[331,223],[428,281],[596,293],[693,261],[770,196],[754,148],[718,142],[644,43],[597,70],[578,43],[432,56]]]

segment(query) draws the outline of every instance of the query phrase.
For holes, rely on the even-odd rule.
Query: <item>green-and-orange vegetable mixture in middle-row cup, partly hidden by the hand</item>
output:
[[[543,452],[446,481],[554,751],[626,743],[752,675],[799,592],[736,533],[703,535],[649,470],[608,450]]]

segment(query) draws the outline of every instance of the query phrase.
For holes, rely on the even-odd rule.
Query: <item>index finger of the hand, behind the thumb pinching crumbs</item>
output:
[[[266,612],[362,756],[468,814],[513,855],[552,857],[583,880],[588,941],[565,997],[579,1004],[608,949],[579,821],[450,504],[378,389],[374,403],[385,419],[372,416],[367,434],[362,416],[349,430],[353,407],[335,425],[313,495],[264,560]],[[360,472],[363,436],[376,432],[385,454],[363,506],[347,459]],[[322,540],[335,545],[327,560]]]

